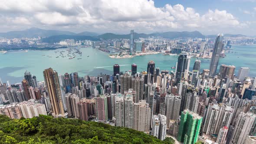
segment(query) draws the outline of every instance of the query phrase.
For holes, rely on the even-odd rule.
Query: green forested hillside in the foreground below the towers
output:
[[[0,144],[173,144],[129,128],[40,115],[10,119],[0,115]]]

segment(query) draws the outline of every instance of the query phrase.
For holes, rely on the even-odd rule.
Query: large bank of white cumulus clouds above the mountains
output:
[[[155,7],[153,0],[1,0],[0,12],[13,25],[20,21],[25,25],[112,31],[243,26],[226,10],[208,10],[200,15],[194,8],[181,4]]]

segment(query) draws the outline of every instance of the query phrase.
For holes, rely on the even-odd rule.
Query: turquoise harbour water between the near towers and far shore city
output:
[[[256,76],[256,45],[234,45],[232,46],[233,53],[226,52],[226,57],[221,58],[219,65],[235,65],[236,74],[241,66],[249,67],[249,75]],[[43,80],[43,70],[52,67],[58,74],[65,72],[79,72],[79,76],[84,75],[98,75],[100,72],[103,74],[112,74],[114,64],[124,65],[120,67],[121,71],[131,70],[131,64],[137,64],[137,71],[145,71],[147,63],[153,60],[160,68],[160,70],[171,70],[171,67],[176,65],[177,56],[163,56],[162,54],[135,56],[131,59],[112,59],[108,57],[108,53],[101,52],[91,47],[79,48],[82,56],[77,56],[75,59],[62,58],[59,52],[66,49],[57,49],[49,51],[28,51],[28,52],[7,52],[0,54],[0,78],[3,82],[9,80],[11,83],[21,82],[24,72],[30,71],[31,74],[36,75],[39,81]],[[65,55],[67,54],[64,53]],[[46,55],[46,56],[42,56]],[[47,57],[47,56],[52,56]],[[59,58],[56,58],[59,56]],[[89,56],[89,57],[87,57]],[[82,58],[82,59],[77,59]],[[191,59],[190,69],[193,68],[195,58]],[[201,70],[209,69],[210,59],[201,59]],[[104,67],[97,68],[94,67]]]

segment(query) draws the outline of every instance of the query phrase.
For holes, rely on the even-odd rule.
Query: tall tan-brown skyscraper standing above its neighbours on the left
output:
[[[62,104],[61,89],[59,87],[59,76],[52,68],[43,71],[46,88],[51,100],[54,117],[66,117]]]

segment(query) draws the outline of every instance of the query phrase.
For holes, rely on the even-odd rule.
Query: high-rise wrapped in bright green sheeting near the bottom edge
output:
[[[192,111],[182,111],[177,140],[184,144],[197,142],[203,118]]]

